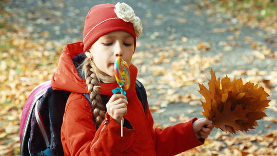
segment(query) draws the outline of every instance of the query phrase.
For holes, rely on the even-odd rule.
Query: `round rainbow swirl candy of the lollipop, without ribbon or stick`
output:
[[[117,84],[123,87],[124,90],[128,90],[130,87],[129,68],[121,57],[117,57],[114,61],[114,75]]]

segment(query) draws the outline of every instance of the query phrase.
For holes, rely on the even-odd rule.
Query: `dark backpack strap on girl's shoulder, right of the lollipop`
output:
[[[142,102],[144,112],[146,112],[147,94],[143,84],[138,80],[135,81],[135,91],[138,99]]]

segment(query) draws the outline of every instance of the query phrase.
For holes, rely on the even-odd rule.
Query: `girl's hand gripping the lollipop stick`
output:
[[[113,94],[107,103],[108,114],[118,123],[121,124],[123,115],[127,114],[128,101],[122,94]]]

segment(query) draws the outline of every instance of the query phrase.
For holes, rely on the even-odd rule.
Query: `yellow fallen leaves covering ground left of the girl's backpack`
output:
[[[36,85],[51,79],[64,46],[45,40],[49,32],[32,32],[21,18],[14,18],[21,11],[0,9],[0,155],[19,155],[22,107]]]

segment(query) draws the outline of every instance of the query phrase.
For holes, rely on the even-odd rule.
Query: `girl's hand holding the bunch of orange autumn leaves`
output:
[[[213,129],[212,121],[204,118],[194,121],[194,123],[192,124],[192,127],[198,139],[208,138],[208,135]]]

